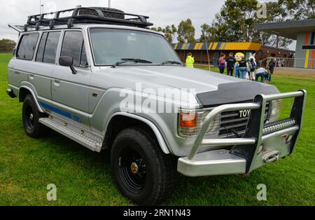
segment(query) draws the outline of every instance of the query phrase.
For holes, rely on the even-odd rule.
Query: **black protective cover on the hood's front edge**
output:
[[[251,101],[256,95],[278,94],[279,90],[274,85],[267,85],[253,81],[224,83],[218,85],[218,90],[198,93],[202,108],[214,107],[221,104],[232,104]]]

